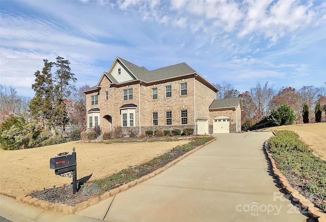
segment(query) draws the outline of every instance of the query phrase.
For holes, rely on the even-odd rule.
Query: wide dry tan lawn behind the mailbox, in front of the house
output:
[[[58,153],[77,156],[77,179],[89,176],[90,180],[104,178],[128,166],[138,165],[189,141],[153,143],[78,143],[52,145],[25,150],[0,149],[0,193],[17,195],[71,183],[72,178],[55,175],[50,169],[50,158]]]

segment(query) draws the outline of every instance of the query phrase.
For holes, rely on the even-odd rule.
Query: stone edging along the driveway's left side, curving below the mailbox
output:
[[[154,177],[157,174],[160,174],[161,172],[169,169],[171,166],[173,166],[174,164],[176,164],[177,162],[179,162],[181,159],[185,158],[186,156],[198,151],[199,149],[201,149],[202,147],[214,142],[216,140],[216,137],[214,137],[212,140],[208,141],[207,143],[205,143],[204,145],[201,145],[199,147],[196,147],[195,149],[183,154],[182,156],[178,157],[177,159],[169,162],[168,164],[166,164],[165,166],[163,166],[162,168],[159,168],[157,170],[155,170],[154,172],[147,174],[139,179],[130,181],[129,183],[123,184],[117,188],[114,188],[110,191],[106,191],[103,193],[103,195],[99,196],[99,197],[93,197],[90,198],[88,201],[84,201],[82,203],[76,204],[75,206],[69,206],[66,204],[56,204],[56,203],[51,203],[48,201],[43,201],[43,200],[39,200],[38,198],[32,198],[31,196],[29,196],[28,194],[25,195],[19,195],[16,197],[17,201],[21,201],[23,203],[28,203],[30,205],[34,205],[35,207],[40,207],[43,210],[48,210],[48,211],[55,211],[55,212],[63,212],[64,214],[73,214],[76,211],[79,210],[83,210],[89,206],[92,206],[94,204],[97,204],[100,201],[103,201],[105,199],[108,199],[110,197],[113,197],[115,195],[117,195],[118,193],[125,191],[133,186],[135,186],[136,184],[142,183],[152,177]],[[62,186],[64,186],[66,184],[63,184]],[[59,186],[53,186],[53,187],[60,187]],[[50,187],[49,187],[50,188]]]

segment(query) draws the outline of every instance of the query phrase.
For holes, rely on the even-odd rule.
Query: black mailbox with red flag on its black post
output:
[[[76,166],[76,152],[72,148],[72,154],[67,152],[59,153],[57,157],[50,158],[50,169],[55,170],[56,175],[64,175],[65,173],[72,172],[72,186],[73,193],[77,191],[77,166]],[[71,176],[70,176],[71,177]]]

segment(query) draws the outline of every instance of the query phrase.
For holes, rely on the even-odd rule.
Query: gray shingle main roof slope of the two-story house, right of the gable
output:
[[[144,82],[158,81],[162,79],[196,73],[196,71],[193,70],[186,63],[179,63],[176,65],[167,66],[167,67],[149,71],[145,67],[136,66],[119,57],[118,59],[132,72],[132,74],[135,75],[135,77],[137,77],[139,80],[142,80]]]

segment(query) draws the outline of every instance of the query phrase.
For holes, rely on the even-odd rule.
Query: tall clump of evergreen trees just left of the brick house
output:
[[[71,73],[70,62],[62,57],[57,57],[56,62],[44,61],[42,73],[35,72],[35,84],[32,89],[35,91],[35,97],[30,103],[30,113],[42,121],[44,127],[63,127],[63,136],[65,136],[65,126],[69,122],[65,99],[76,90],[71,82],[77,79]],[[57,68],[55,76],[52,76],[51,68]]]

